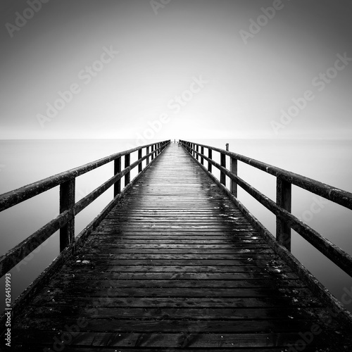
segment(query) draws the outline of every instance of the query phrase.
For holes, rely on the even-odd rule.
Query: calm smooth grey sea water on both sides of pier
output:
[[[153,141],[151,141],[153,142]],[[194,142],[217,146],[255,158],[279,168],[311,177],[352,192],[352,141],[322,140],[222,140],[197,139]],[[0,141],[0,194],[44,177],[75,168],[118,151],[135,146],[133,140],[11,140]],[[132,155],[132,162],[137,155]],[[213,153],[219,161],[217,153]],[[228,161],[227,161],[228,163]],[[108,164],[77,178],[76,200],[113,175],[113,165]],[[132,173],[132,177],[136,172]],[[275,200],[275,177],[249,165],[239,163],[239,176],[253,184],[259,191]],[[344,251],[352,253],[352,217],[346,210],[308,191],[293,187],[292,213],[305,220],[310,227],[320,232]],[[109,189],[76,219],[78,234],[99,211],[113,198]],[[239,189],[239,200],[251,210],[263,225],[275,233],[275,217],[260,206],[245,191]],[[312,209],[314,211],[312,211]],[[58,215],[58,187],[18,204],[0,213],[1,253],[23,241],[32,232]],[[339,300],[352,289],[352,279],[334,263],[327,260],[308,242],[293,232],[292,253],[306,268],[325,284]],[[58,255],[58,234],[54,234],[34,253],[17,265],[12,274],[13,299]],[[0,287],[4,287],[4,277]],[[4,310],[4,289],[1,289],[1,311]],[[352,311],[352,305],[346,308]]]

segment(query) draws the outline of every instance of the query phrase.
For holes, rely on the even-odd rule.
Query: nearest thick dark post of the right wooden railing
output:
[[[277,177],[276,203],[291,213],[291,182],[280,177]],[[279,244],[291,251],[291,227],[279,216],[276,217],[276,239]]]

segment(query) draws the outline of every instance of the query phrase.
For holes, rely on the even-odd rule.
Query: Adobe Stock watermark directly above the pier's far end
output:
[[[206,84],[208,84],[208,81],[203,80],[201,75],[199,75],[199,77],[192,77],[189,88],[185,89],[180,95],[176,95],[168,101],[168,110],[172,111],[173,115],[180,113],[182,108],[187,106],[189,101],[194,99],[194,96],[199,94],[206,86]],[[148,121],[147,123],[149,127],[146,127],[142,133],[137,132],[135,145],[131,147],[134,148],[135,146],[148,144],[149,140],[156,137],[156,134],[162,130],[163,125],[170,121],[171,118],[168,113],[161,113],[157,120]]]

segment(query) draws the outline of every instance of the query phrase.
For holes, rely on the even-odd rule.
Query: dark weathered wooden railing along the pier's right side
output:
[[[351,193],[237,153],[194,142],[180,140],[180,143],[201,165],[204,164],[204,160],[208,161],[208,168],[204,166],[203,168],[208,170],[210,175],[213,166],[220,170],[220,185],[225,187],[225,177],[230,177],[230,189],[228,189],[230,194],[237,198],[238,185],[276,215],[276,240],[279,244],[287,250],[291,250],[291,229],[293,229],[352,277],[352,256],[291,214],[291,185],[294,184],[302,189],[306,189],[348,209],[352,209]],[[204,149],[208,150],[208,156],[205,155]],[[220,164],[213,161],[213,151],[220,153]],[[226,156],[230,156],[230,170],[226,166]],[[277,178],[276,202],[238,177],[238,161],[251,165]]]

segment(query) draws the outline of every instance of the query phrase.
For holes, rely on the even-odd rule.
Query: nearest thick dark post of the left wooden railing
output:
[[[60,185],[60,213],[75,205],[75,178]],[[75,239],[75,218],[60,229],[60,251],[63,251]]]

